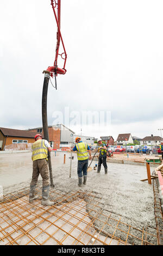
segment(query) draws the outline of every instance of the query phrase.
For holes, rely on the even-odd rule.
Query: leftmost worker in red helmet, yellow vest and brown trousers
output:
[[[35,142],[32,144],[32,160],[33,160],[33,174],[30,182],[29,203],[38,197],[35,196],[35,187],[39,174],[42,177],[42,200],[41,205],[54,205],[54,202],[49,201],[49,170],[48,170],[48,151],[52,148],[48,141],[42,139],[40,134],[36,134]]]

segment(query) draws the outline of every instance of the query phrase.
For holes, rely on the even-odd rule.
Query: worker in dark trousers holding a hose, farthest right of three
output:
[[[98,147],[99,147],[99,156],[98,156],[98,167],[97,167],[97,173],[101,170],[101,164],[103,163],[105,174],[108,173],[108,166],[106,164],[106,146],[102,143],[102,139],[97,139]]]

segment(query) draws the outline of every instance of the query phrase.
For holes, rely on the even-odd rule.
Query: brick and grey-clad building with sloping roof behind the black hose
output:
[[[40,133],[43,132],[43,128],[36,127],[33,129],[28,129],[28,131]],[[74,132],[63,124],[49,125],[48,134],[49,142],[53,149],[68,148],[70,147],[70,143],[73,143]]]

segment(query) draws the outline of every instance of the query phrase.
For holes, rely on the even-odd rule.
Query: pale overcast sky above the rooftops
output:
[[[0,9],[0,126],[42,126],[42,71],[54,63],[57,32],[51,1],[1,1]],[[48,125],[67,107],[79,134],[160,136],[162,9],[162,0],[61,0],[67,72],[57,90],[49,83]],[[110,113],[109,122],[85,123],[88,111]]]

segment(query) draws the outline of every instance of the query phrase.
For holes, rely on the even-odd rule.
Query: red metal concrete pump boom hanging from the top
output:
[[[61,35],[61,32],[60,32],[60,5],[61,5],[61,0],[58,0],[58,1],[51,0],[51,5],[52,5],[52,8],[53,8],[55,20],[57,22],[57,45],[56,45],[56,49],[55,49],[54,66],[49,66],[47,71],[49,71],[51,73],[51,76],[53,77],[53,74],[55,76],[57,76],[58,74],[62,74],[62,75],[66,74],[65,65],[66,65],[67,54],[66,54],[66,50],[65,50],[64,41],[62,39],[62,35]],[[56,7],[57,7],[57,10],[58,10],[57,14],[55,12]],[[64,48],[64,52],[62,52],[61,54],[59,54],[60,41],[62,43],[62,47]],[[59,55],[61,56],[62,59],[64,59],[64,66],[63,66],[62,69],[58,68],[58,65],[57,65]]]

